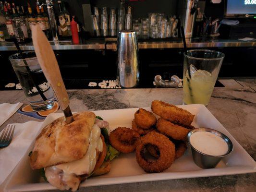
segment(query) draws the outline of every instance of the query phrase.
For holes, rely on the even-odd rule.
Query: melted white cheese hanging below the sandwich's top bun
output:
[[[80,180],[76,176],[90,175],[97,162],[97,151],[102,152],[103,150],[100,128],[97,124],[92,127],[89,142],[87,153],[82,159],[45,168],[46,177],[50,184],[60,190],[77,190]]]

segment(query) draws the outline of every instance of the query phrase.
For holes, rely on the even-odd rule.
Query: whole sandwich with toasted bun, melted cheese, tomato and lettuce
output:
[[[89,176],[108,173],[110,161],[119,155],[109,144],[107,121],[89,111],[73,118],[70,124],[61,117],[43,128],[29,155],[31,168],[42,169],[60,190],[76,191]]]

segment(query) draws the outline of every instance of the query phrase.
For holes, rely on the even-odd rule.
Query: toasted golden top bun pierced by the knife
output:
[[[95,117],[93,112],[85,111],[74,114],[70,124],[61,117],[47,125],[36,138],[31,168],[45,168],[85,156]]]

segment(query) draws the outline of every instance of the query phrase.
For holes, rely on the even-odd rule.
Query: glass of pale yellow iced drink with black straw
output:
[[[184,53],[183,103],[208,105],[225,55],[195,49]]]

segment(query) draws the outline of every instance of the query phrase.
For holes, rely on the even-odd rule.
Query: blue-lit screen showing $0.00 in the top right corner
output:
[[[256,0],[227,1],[227,14],[256,14]]]

